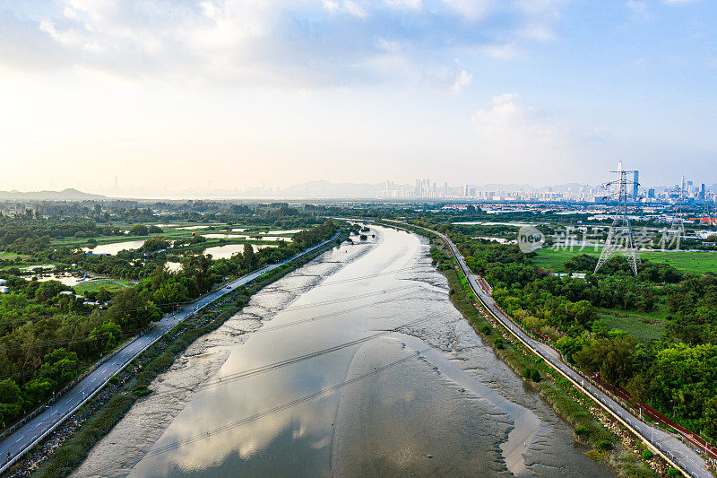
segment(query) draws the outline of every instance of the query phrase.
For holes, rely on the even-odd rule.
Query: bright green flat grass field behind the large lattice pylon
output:
[[[579,254],[600,256],[600,250],[596,251],[594,248],[585,248],[581,251],[578,250],[578,248],[575,248],[571,251],[541,248],[536,251],[536,256],[533,257],[532,262],[534,265],[544,269],[553,269],[555,272],[564,272],[563,264],[566,260]],[[704,274],[708,272],[717,274],[717,253],[715,252],[641,251],[640,257],[655,263],[669,264],[680,271],[691,274]]]

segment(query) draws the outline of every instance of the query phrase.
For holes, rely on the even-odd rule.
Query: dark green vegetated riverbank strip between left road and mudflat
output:
[[[345,235],[337,240],[345,239]],[[45,442],[7,473],[7,476],[65,476],[87,456],[92,446],[119,422],[136,400],[147,395],[147,385],[168,369],[178,354],[198,337],[205,335],[242,309],[255,291],[275,282],[289,272],[307,264],[325,250],[336,246],[332,241],[307,256],[273,269],[243,287],[223,296],[196,317],[182,322],[158,343],[143,352],[125,371],[108,384],[91,402],[85,404]]]

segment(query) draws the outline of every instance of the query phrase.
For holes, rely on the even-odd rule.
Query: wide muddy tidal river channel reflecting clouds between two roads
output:
[[[368,238],[197,340],[75,475],[610,475],[454,309],[425,239]]]

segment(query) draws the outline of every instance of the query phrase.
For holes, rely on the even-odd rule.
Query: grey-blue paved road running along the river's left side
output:
[[[131,343],[125,344],[125,346],[117,352],[117,355],[101,364],[97,369],[93,370],[90,375],[82,379],[72,389],[67,391],[65,395],[62,395],[57,401],[52,404],[48,409],[34,417],[30,422],[25,423],[20,429],[15,430],[13,434],[6,437],[2,443],[0,443],[0,459],[4,464],[0,467],[0,473],[4,472],[10,465],[13,465],[26,451],[32,448],[39,440],[43,439],[51,430],[57,425],[65,421],[65,419],[71,416],[74,411],[86,403],[92,395],[96,394],[101,387],[103,387],[110,378],[115,376],[117,372],[124,369],[130,361],[134,360],[134,357],[142,353],[152,343],[157,342],[160,337],[166,334],[172,327],[176,326],[186,317],[191,316],[195,311],[203,309],[214,300],[219,299],[221,296],[237,289],[238,287],[252,282],[260,275],[271,271],[281,265],[284,265],[299,256],[304,256],[309,252],[324,246],[324,244],[331,242],[338,237],[338,233],[333,236],[332,239],[328,239],[321,244],[308,248],[307,250],[297,254],[296,256],[289,257],[289,259],[279,263],[272,264],[259,269],[252,274],[240,277],[236,281],[225,284],[221,289],[214,291],[199,300],[196,300],[192,304],[188,304],[184,309],[177,311],[175,314],[168,314],[163,317],[160,322],[152,326],[148,332],[134,339]],[[10,454],[10,461],[7,460],[8,453]]]

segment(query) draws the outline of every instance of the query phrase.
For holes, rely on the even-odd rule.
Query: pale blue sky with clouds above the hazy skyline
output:
[[[717,182],[713,0],[0,0],[0,190]]]

